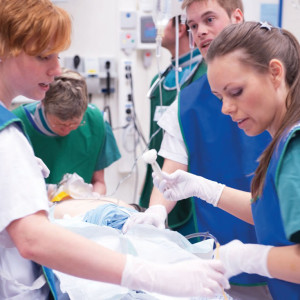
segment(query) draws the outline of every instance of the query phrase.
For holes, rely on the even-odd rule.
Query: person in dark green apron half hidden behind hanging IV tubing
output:
[[[181,16],[169,20],[164,29],[162,47],[171,54],[171,64],[161,74],[157,74],[152,82],[148,93],[150,99],[150,143],[149,149],[160,149],[163,138],[163,131],[160,130],[157,122],[165,110],[173,103],[177,96],[176,86],[176,18],[178,18],[178,81],[180,89],[186,87],[206,72],[206,65],[203,63],[199,49],[190,49],[189,32],[186,24],[181,24]],[[159,156],[158,164],[162,167],[164,158]],[[145,183],[140,197],[140,205],[148,207],[150,196],[153,190],[152,168],[147,166]],[[187,220],[190,222],[187,223]],[[191,202],[184,200],[178,202],[168,216],[168,226],[179,231],[183,235],[195,232],[191,218]],[[185,224],[186,223],[186,224]],[[181,226],[185,224],[184,226]]]

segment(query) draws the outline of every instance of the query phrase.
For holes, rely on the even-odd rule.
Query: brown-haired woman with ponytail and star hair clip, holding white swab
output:
[[[227,276],[241,272],[267,276],[273,299],[298,300],[299,42],[290,32],[265,22],[232,25],[211,44],[207,63],[209,83],[221,100],[222,112],[247,135],[267,130],[273,138],[260,158],[251,194],[183,171],[155,182],[167,199],[192,194],[254,223],[261,245],[235,240],[221,246]],[[227,76],[220,76],[225,71]]]

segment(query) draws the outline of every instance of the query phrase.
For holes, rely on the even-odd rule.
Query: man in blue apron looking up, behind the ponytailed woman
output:
[[[185,0],[183,8],[186,8],[187,24],[204,59],[210,43],[222,29],[231,23],[243,22],[240,0]],[[222,75],[227,76],[226,72]],[[267,133],[248,137],[221,113],[221,103],[211,93],[206,75],[180,92],[179,101],[170,106],[159,126],[165,130],[159,151],[165,158],[165,172],[189,170],[245,191],[250,190],[257,159],[270,142]],[[127,227],[135,223],[163,226],[165,211],[169,213],[175,204],[154,188],[150,210],[132,216]],[[193,200],[193,220],[196,232],[209,232],[221,244],[234,239],[257,242],[252,225],[198,199]],[[261,276],[243,273],[231,278],[230,283],[229,294],[233,298],[271,299],[266,279]]]

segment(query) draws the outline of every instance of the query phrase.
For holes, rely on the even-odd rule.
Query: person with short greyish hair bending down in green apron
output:
[[[66,173],[77,173],[95,192],[106,194],[104,169],[121,155],[110,125],[88,104],[83,76],[63,69],[41,102],[13,112],[24,123],[35,155],[50,170],[47,183],[58,184]]]

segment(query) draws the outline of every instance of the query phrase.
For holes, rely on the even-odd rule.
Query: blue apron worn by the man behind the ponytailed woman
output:
[[[189,157],[189,172],[250,191],[257,159],[271,141],[267,134],[248,137],[229,116],[222,114],[221,101],[211,93],[207,75],[183,89],[179,99],[179,121]],[[257,243],[254,226],[201,199],[194,198],[198,232],[209,232],[221,245],[234,239]],[[266,278],[240,274],[230,280],[238,285],[257,285]]]

